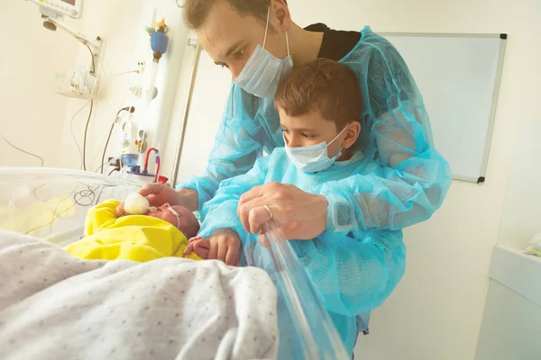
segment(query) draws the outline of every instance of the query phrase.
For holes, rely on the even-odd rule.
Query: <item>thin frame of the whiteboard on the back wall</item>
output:
[[[491,114],[489,127],[487,129],[484,153],[481,162],[481,172],[478,178],[464,175],[453,175],[454,180],[467,181],[481,184],[485,182],[487,169],[489,167],[489,157],[491,153],[492,131],[494,130],[494,121],[496,119],[496,110],[498,108],[498,99],[500,97],[501,74],[503,73],[503,61],[507,46],[508,34],[502,33],[445,33],[445,32],[378,32],[381,36],[408,36],[408,37],[442,37],[442,38],[481,38],[481,39],[500,39],[500,53],[498,57],[498,68],[496,69],[496,78],[494,79],[494,91],[492,92]]]

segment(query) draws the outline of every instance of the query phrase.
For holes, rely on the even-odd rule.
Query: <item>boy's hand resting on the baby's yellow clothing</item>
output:
[[[217,229],[210,236],[208,259],[222,260],[228,266],[239,266],[241,262],[241,238],[232,229]]]

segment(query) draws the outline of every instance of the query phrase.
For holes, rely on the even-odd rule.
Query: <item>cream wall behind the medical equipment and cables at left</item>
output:
[[[178,10],[177,14],[170,12],[170,15],[179,21],[179,9],[174,3],[168,3]],[[132,85],[141,85],[143,77],[133,73],[116,74],[136,69],[138,61],[150,63],[146,58],[151,53],[150,45],[142,21],[148,20],[150,24],[150,9],[157,5],[158,2],[151,0],[93,0],[84,3],[82,19],[64,19],[88,38],[100,36],[104,40],[102,54],[96,61],[99,91],[87,133],[89,171],[96,171],[100,166],[105,139],[117,110],[135,105],[139,110],[137,115],[142,115],[140,101],[126,96],[126,91]],[[0,133],[15,145],[44,157],[45,166],[81,168],[70,121],[88,102],[56,94],[55,72],[90,68],[87,48],[63,31],[43,29],[37,6],[23,0],[4,6],[0,20],[0,36],[5,40],[6,52],[0,67],[3,110]],[[73,132],[80,148],[83,147],[88,111],[87,104],[73,121]],[[119,148],[119,130],[115,129],[108,155],[116,156]],[[39,165],[39,160],[17,152],[2,139],[0,150],[0,166]]]

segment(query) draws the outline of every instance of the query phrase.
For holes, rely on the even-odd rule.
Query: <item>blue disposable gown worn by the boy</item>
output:
[[[271,156],[259,158],[247,174],[222,182],[215,197],[203,206],[205,220],[199,235],[208,237],[215,229],[234,229],[247,256],[248,249],[260,246],[254,244],[255,235],[244,231],[237,217],[237,206],[241,195],[253,186],[278,182],[294,184],[307,193],[320,193],[326,187],[340,188],[341,182],[351,174],[384,178],[393,171],[363,157],[359,151],[351,160],[308,174],[289,161],[284,148],[276,148]],[[327,229],[313,240],[293,240],[291,245],[321,295],[346,350],[352,353],[358,332],[366,329],[358,327],[357,316],[366,317],[367,312],[379,306],[404,274],[406,249],[402,231],[360,227],[346,232]]]

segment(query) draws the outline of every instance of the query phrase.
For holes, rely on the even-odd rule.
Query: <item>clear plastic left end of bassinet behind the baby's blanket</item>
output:
[[[64,246],[83,236],[90,207],[124,199],[140,187],[83,171],[0,168],[0,229]]]

